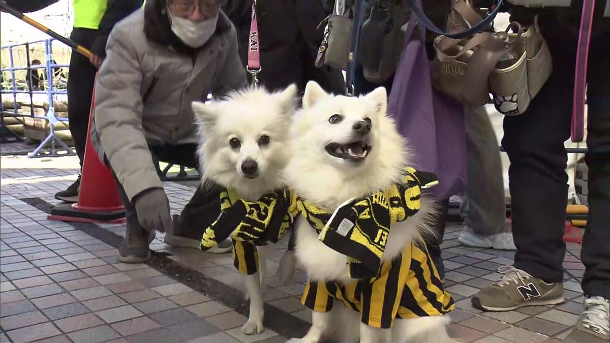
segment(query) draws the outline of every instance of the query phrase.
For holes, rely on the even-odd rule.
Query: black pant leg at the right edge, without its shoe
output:
[[[610,18],[608,19],[610,20]],[[590,45],[587,156],[589,217],[581,258],[583,291],[610,299],[610,33]]]

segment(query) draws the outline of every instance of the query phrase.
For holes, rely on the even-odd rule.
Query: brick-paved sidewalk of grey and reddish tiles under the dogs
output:
[[[1,158],[0,343],[284,342],[309,327],[309,311],[299,301],[304,273],[298,271],[297,282],[285,287],[277,287],[273,276],[285,243],[277,245],[268,265],[265,331],[244,336],[248,306],[231,254],[176,250],[157,236],[150,262],[120,263],[116,248],[123,225],[46,220],[57,204],[52,195],[73,181],[74,169]],[[77,165],[73,157],[62,158]],[[176,182],[165,187],[176,213],[194,190]],[[583,301],[580,245],[569,244],[565,258],[566,303],[481,313],[470,297],[498,280],[495,270],[511,264],[514,254],[459,247],[458,234],[459,227],[451,226],[443,243],[446,286],[457,301],[452,336],[467,342],[552,342],[567,334]]]

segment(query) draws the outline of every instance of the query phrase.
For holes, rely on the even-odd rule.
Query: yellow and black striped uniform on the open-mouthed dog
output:
[[[428,250],[415,243],[399,258],[382,264],[376,278],[348,284],[309,281],[301,303],[328,312],[334,300],[360,312],[362,323],[376,328],[391,328],[395,318],[441,316],[454,308]]]

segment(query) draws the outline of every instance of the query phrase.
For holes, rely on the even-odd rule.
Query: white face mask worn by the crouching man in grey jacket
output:
[[[186,18],[174,16],[169,9],[167,12],[170,16],[171,31],[180,38],[182,43],[191,48],[199,48],[204,45],[216,31],[218,13],[213,18],[195,23]]]

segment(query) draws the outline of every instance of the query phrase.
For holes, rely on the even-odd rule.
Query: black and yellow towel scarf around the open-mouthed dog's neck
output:
[[[293,195],[291,212],[303,216],[329,248],[348,256],[353,278],[377,275],[390,226],[412,217],[421,207],[422,189],[438,184],[432,173],[407,168],[403,182],[366,198],[343,203],[334,212]]]

